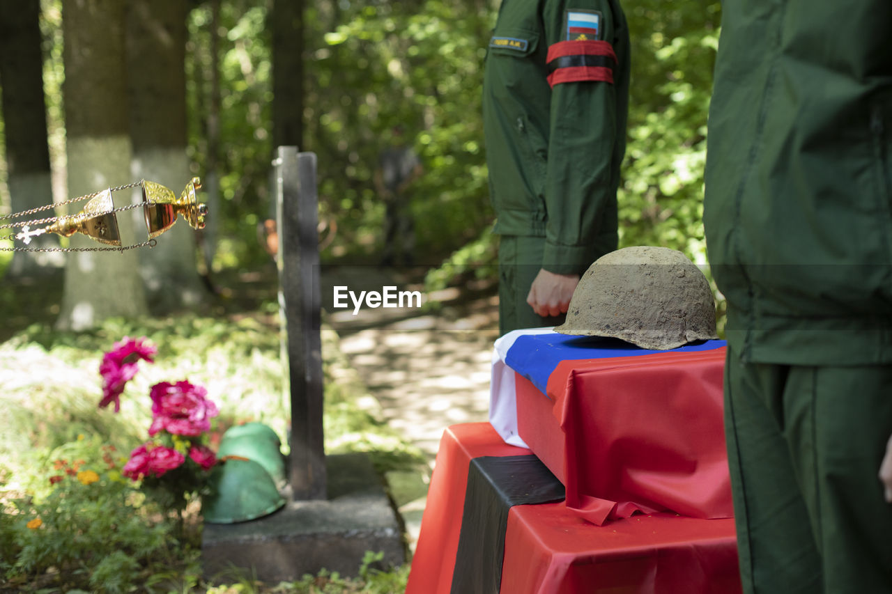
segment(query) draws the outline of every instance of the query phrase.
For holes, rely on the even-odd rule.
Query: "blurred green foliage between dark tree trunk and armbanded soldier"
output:
[[[330,255],[380,247],[372,179],[398,125],[425,167],[409,189],[417,260],[452,252],[491,223],[480,108],[491,16],[457,0],[308,7],[305,136],[319,156],[321,215],[338,226]]]

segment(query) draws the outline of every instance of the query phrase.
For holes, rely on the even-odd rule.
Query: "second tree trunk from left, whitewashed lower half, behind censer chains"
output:
[[[132,181],[124,3],[66,0],[62,11],[68,189],[78,196]],[[122,191],[112,198],[122,206],[137,195]],[[139,209],[118,213],[125,243],[145,240],[145,222],[140,227],[137,217]],[[70,241],[75,248],[99,246],[80,234]],[[57,328],[85,330],[104,318],[136,318],[147,311],[136,250],[69,253]]]

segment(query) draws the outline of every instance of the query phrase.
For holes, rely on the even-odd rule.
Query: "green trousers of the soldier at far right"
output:
[[[745,592],[892,592],[892,366],[744,364],[725,435]]]

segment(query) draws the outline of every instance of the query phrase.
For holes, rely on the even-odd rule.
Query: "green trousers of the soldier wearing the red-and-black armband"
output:
[[[566,316],[542,318],[526,296],[542,268],[545,237],[501,235],[499,242],[499,334],[518,328],[558,326]]]

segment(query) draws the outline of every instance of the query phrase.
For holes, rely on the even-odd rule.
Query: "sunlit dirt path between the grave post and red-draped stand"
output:
[[[349,297],[349,307],[333,307],[335,286],[359,295],[388,285],[424,293],[392,270],[343,267],[323,276],[323,307],[342,351],[381,403],[384,420],[424,451],[433,468],[447,426],[488,418],[498,300],[491,291],[475,296],[451,291],[424,295],[425,301],[442,303],[434,312],[379,307],[354,314]],[[425,498],[398,504],[414,550]]]

